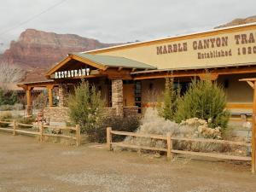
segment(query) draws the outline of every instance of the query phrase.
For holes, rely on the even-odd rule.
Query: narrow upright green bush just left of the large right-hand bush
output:
[[[165,119],[173,120],[177,111],[177,102],[180,98],[180,86],[175,89],[172,78],[166,78],[166,88],[163,96],[164,102],[158,108],[159,114]]]

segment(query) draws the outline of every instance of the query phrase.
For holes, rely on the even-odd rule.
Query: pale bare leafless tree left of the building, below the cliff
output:
[[[1,83],[17,83],[25,78],[26,71],[15,64],[0,61],[0,74]]]

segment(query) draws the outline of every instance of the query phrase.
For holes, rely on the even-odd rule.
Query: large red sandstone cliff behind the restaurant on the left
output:
[[[2,58],[28,70],[47,69],[61,61],[68,53],[100,49],[116,44],[102,44],[96,39],[73,34],[56,34],[27,29],[18,41],[12,41]]]

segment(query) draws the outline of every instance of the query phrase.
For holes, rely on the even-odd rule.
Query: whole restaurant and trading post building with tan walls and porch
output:
[[[45,87],[45,114],[66,119],[67,95],[81,79],[101,90],[108,113],[122,116],[154,107],[166,77],[185,91],[191,79],[207,76],[223,84],[227,108],[234,115],[252,113],[253,91],[238,80],[256,76],[256,23],[71,53],[45,74],[47,80],[18,86],[26,90],[27,113],[32,110],[32,89]],[[54,89],[58,106],[53,103]]]

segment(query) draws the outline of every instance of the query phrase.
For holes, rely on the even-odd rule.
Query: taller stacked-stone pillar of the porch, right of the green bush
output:
[[[116,115],[123,116],[123,80],[112,80],[112,108],[116,109]]]

